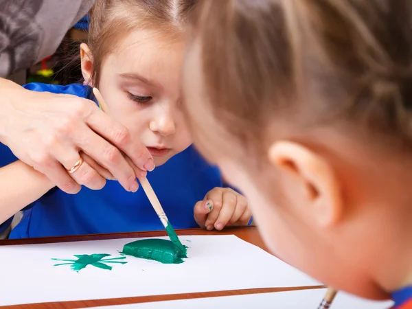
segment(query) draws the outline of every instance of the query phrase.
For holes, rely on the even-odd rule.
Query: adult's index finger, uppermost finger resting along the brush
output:
[[[155,169],[155,161],[153,161],[148,148],[141,144],[139,139],[133,139],[126,127],[116,122],[98,106],[91,109],[86,122],[96,133],[121,149],[137,168],[144,171]]]

